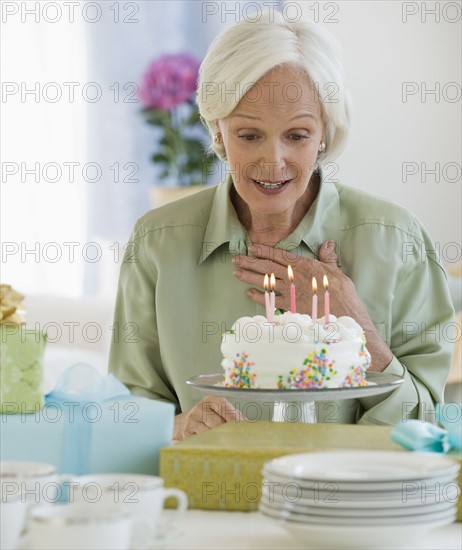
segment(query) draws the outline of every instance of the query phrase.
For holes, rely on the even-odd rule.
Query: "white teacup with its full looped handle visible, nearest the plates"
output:
[[[143,474],[94,474],[80,476],[72,483],[70,501],[98,505],[118,505],[134,518],[149,520],[152,539],[164,539],[164,533],[172,532],[178,526],[188,507],[186,494],[180,489],[164,488],[161,477]],[[176,513],[162,521],[165,500],[177,500]]]

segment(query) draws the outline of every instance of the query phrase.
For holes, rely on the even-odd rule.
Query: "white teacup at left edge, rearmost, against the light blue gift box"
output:
[[[61,484],[70,476],[58,475],[56,466],[41,462],[0,462],[0,484],[5,496],[21,495],[29,506],[61,500]]]

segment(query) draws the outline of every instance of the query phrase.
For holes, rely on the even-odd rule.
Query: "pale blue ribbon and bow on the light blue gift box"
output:
[[[130,391],[113,374],[103,377],[90,365],[78,363],[62,373],[55,389],[45,396],[45,403],[63,412],[63,472],[82,475],[91,469],[93,422],[86,414],[89,406],[127,395]]]

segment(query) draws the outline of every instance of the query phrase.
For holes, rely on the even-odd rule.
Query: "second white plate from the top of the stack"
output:
[[[363,493],[368,492],[390,492],[390,491],[412,491],[426,490],[430,492],[431,488],[436,488],[439,484],[440,489],[446,489],[450,485],[456,485],[457,475],[449,474],[436,476],[431,478],[414,479],[412,481],[383,481],[383,482],[367,482],[348,483],[343,481],[319,481],[298,479],[295,477],[284,477],[273,474],[263,468],[262,475],[264,481],[271,487],[289,487],[293,486],[294,492],[299,487],[301,490],[318,491],[319,493],[351,493],[351,497],[359,496],[364,498]],[[444,487],[443,487],[444,486]],[[367,496],[367,495],[366,495]]]

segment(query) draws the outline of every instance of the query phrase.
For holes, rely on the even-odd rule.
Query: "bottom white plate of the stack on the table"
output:
[[[396,525],[342,526],[303,525],[281,520],[281,525],[306,548],[354,548],[372,550],[377,548],[403,548],[403,544],[412,547],[424,539],[429,531],[452,523],[451,519],[427,523],[409,523]]]

